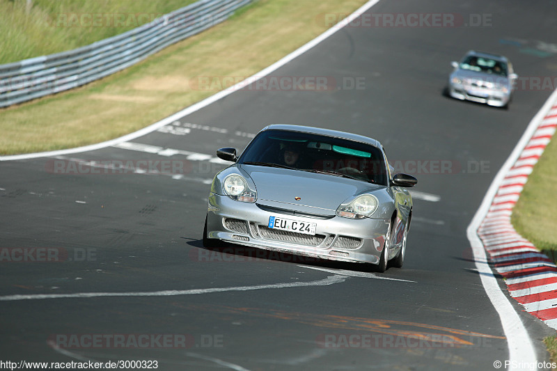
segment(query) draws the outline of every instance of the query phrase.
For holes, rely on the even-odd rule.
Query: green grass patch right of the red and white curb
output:
[[[512,210],[520,235],[538,249],[557,250],[557,141],[547,145]]]

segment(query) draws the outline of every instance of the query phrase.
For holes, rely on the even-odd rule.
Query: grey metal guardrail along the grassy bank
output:
[[[223,22],[253,0],[201,0],[86,47],[0,65],[0,108],[77,88]]]

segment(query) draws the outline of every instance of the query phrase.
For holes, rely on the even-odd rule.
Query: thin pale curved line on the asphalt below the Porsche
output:
[[[83,299],[92,297],[173,297],[178,295],[210,294],[212,292],[251,291],[265,289],[283,289],[287,287],[327,286],[346,281],[346,276],[328,276],[319,281],[271,283],[269,285],[213,287],[194,290],[164,290],[151,292],[77,292],[74,294],[16,294],[0,297],[0,301],[40,300],[40,299]]]

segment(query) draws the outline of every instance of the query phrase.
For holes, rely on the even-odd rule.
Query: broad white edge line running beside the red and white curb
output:
[[[489,297],[489,300],[492,302],[495,310],[499,314],[499,318],[501,319],[501,325],[503,326],[503,331],[508,341],[509,361],[511,365],[521,362],[537,364],[536,362],[538,358],[535,354],[532,340],[528,335],[528,331],[526,331],[520,316],[515,311],[515,308],[512,307],[509,299],[505,297],[503,291],[501,291],[501,287],[499,287],[499,283],[497,283],[492,269],[489,267],[487,262],[485,262],[485,260],[487,260],[486,251],[482,240],[478,237],[478,229],[488,214],[489,207],[491,206],[492,200],[501,186],[501,182],[503,182],[505,177],[508,177],[510,168],[513,164],[515,164],[519,156],[521,154],[524,155],[524,147],[526,147],[526,144],[531,139],[535,130],[538,129],[538,125],[542,122],[546,112],[551,109],[551,104],[556,100],[556,98],[557,90],[551,94],[551,97],[549,97],[549,99],[545,102],[542,109],[540,109],[540,111],[538,111],[538,113],[536,113],[536,115],[532,118],[526,128],[526,131],[522,134],[519,143],[517,143],[515,149],[512,150],[512,153],[508,157],[507,161],[505,161],[505,164],[503,164],[501,169],[499,169],[495,179],[489,186],[489,189],[487,189],[487,193],[485,194],[478,211],[474,214],[468,228],[466,228],[466,236],[468,237],[470,246],[472,247],[476,267],[480,272],[480,280],[487,297]]]

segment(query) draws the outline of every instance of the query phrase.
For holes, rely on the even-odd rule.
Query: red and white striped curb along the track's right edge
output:
[[[554,95],[549,101],[549,110],[504,174],[477,233],[494,269],[506,278],[510,296],[521,303],[526,312],[557,329],[557,267],[547,255],[521,237],[510,222],[512,208],[528,175],[556,131],[557,99]]]

